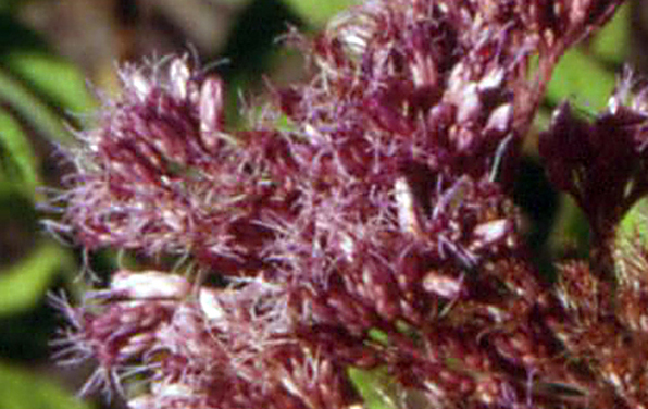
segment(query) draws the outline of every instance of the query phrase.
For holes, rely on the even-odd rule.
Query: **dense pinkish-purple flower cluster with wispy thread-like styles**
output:
[[[61,225],[201,273],[120,271],[60,302],[60,356],[95,357],[87,388],[134,409],[349,408],[350,368],[385,371],[397,408],[645,408],[648,255],[613,239],[648,186],[630,78],[591,124],[563,104],[540,136],[591,267],[543,278],[511,200],[553,65],[618,3],[367,1],[286,36],[312,79],[242,131],[187,57],[123,69]]]

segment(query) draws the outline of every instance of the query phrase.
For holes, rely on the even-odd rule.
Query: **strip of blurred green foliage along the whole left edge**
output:
[[[41,237],[36,205],[43,200],[42,154],[50,152],[43,147],[71,142],[66,123],[94,107],[78,67],[49,51],[15,17],[21,5],[0,1],[0,333],[11,334],[0,337],[0,359],[12,360],[45,354],[51,323],[27,325],[46,317],[47,292],[77,274],[71,249]],[[0,408],[87,405],[42,376],[0,363]]]

